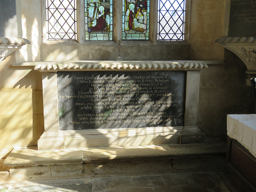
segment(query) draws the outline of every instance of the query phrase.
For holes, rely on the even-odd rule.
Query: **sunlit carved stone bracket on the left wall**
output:
[[[30,41],[18,37],[0,37],[0,62],[25,44],[30,44]]]

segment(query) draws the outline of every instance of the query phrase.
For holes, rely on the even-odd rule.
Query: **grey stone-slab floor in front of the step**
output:
[[[0,192],[221,192],[221,172],[0,182]]]

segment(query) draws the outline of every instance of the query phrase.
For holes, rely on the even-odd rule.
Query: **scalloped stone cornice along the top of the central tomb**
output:
[[[17,66],[13,64],[13,66]],[[26,64],[28,66],[28,64]],[[88,70],[202,70],[207,64],[198,61],[68,61],[38,62],[40,72]]]

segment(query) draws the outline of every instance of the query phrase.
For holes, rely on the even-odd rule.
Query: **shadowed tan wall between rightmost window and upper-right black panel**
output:
[[[224,60],[214,41],[224,36],[225,0],[193,0],[190,12],[190,59]]]

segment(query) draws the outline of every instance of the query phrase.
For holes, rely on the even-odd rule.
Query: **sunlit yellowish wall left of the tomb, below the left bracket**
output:
[[[42,78],[14,68],[15,53],[0,64],[0,157],[17,146],[35,145],[43,132]]]

